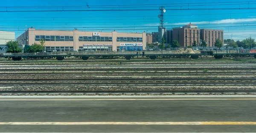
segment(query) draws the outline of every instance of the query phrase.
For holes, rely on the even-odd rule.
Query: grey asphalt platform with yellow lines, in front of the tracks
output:
[[[0,97],[0,132],[255,132],[256,96]]]

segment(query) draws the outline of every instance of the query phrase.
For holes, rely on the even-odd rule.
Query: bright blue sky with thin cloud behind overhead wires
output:
[[[157,10],[165,6],[167,29],[180,27],[191,22],[198,28],[224,30],[224,39],[241,40],[249,36],[256,38],[256,9],[246,10],[195,10],[193,8],[256,8],[256,1],[247,0],[2,0],[0,11],[31,10],[101,10],[101,9],[139,9],[137,11],[57,11],[57,12],[0,12],[0,30],[13,31],[19,36],[29,27],[47,30],[111,31],[118,32],[156,32],[159,25]],[[248,1],[249,4],[248,4]],[[219,3],[218,3],[219,2]],[[176,3],[176,5],[171,5]],[[184,3],[184,4],[177,4]],[[186,3],[186,4],[185,4]],[[201,3],[201,4],[193,4]],[[66,6],[88,6],[70,7]],[[106,5],[140,5],[137,8]],[[155,4],[145,7],[143,4]],[[202,6],[198,6],[202,5]],[[9,8],[18,6],[23,8]],[[25,7],[26,6],[26,7]],[[34,8],[33,6],[64,6],[54,8]],[[7,7],[7,9],[6,9]],[[32,8],[33,7],[33,8]],[[103,8],[104,7],[104,8]],[[106,8],[108,7],[108,8]],[[190,10],[171,10],[185,9]],[[141,10],[140,10],[141,9]],[[150,9],[150,10],[144,10]]]

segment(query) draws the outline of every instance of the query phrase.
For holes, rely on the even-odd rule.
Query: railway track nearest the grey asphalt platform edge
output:
[[[256,90],[169,90],[169,91],[0,91],[0,94],[256,94]]]

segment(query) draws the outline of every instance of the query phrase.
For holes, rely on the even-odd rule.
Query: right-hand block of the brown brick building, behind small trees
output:
[[[217,39],[224,44],[224,30],[201,29],[200,31],[200,38],[207,43],[207,47],[214,47]]]

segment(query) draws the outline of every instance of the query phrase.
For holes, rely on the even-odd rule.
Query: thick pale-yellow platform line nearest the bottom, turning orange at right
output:
[[[256,125],[256,122],[0,122],[0,125]]]

